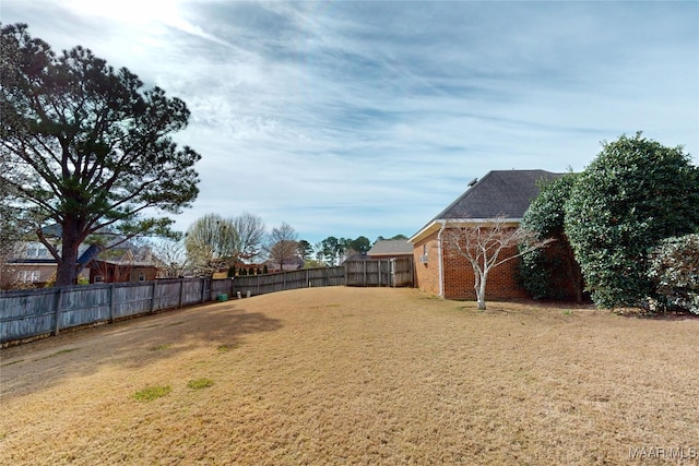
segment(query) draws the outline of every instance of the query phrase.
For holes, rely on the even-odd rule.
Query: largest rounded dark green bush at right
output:
[[[597,306],[638,306],[652,295],[648,251],[699,229],[699,170],[682,147],[621,136],[574,183],[565,229]]]

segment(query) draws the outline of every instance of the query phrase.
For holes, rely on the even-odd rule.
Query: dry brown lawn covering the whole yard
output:
[[[3,349],[0,463],[696,464],[698,349],[697,319],[285,291]]]

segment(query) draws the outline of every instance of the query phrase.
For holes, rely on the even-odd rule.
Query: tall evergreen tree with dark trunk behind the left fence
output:
[[[173,220],[144,214],[176,214],[196,199],[200,156],[170,136],[190,113],[83,47],[56,55],[23,24],[3,26],[0,38],[0,151],[11,165],[0,182],[13,187],[56,258],[56,284],[71,285],[90,235],[162,235]],[[51,224],[58,246],[44,234]]]

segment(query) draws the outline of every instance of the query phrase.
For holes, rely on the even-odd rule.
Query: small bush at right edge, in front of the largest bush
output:
[[[667,238],[650,253],[651,309],[699,314],[699,234]]]

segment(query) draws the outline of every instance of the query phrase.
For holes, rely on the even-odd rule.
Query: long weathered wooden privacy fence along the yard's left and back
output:
[[[412,286],[412,258],[352,261],[235,279],[182,278],[8,291],[0,295],[0,344],[223,298],[319,286]]]

